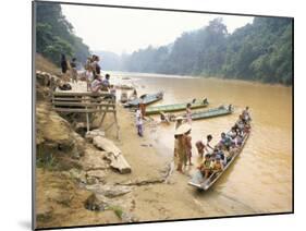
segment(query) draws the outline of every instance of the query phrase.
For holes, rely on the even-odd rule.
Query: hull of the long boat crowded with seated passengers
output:
[[[188,182],[188,184],[192,186],[195,186],[199,190],[204,190],[204,191],[207,191],[208,189],[210,189],[218,181],[218,179],[221,178],[221,175],[225,172],[225,170],[234,162],[236,157],[241,154],[241,151],[243,150],[243,147],[249,136],[249,133],[250,133],[250,131],[245,134],[245,136],[243,138],[243,143],[242,143],[238,151],[235,155],[233,155],[230,160],[228,160],[227,165],[224,166],[224,168],[221,172],[215,172],[208,179],[204,179],[201,172],[199,170],[197,170],[195,172],[195,174],[193,175],[192,180]]]

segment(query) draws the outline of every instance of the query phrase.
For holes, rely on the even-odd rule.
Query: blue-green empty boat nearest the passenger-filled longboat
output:
[[[192,119],[201,120],[201,119],[208,119],[208,118],[213,118],[213,117],[220,117],[220,115],[231,114],[231,113],[233,113],[233,111],[234,111],[234,108],[231,105],[228,107],[220,106],[218,108],[212,108],[209,110],[193,112]],[[186,113],[180,114],[179,117],[186,118]],[[174,120],[175,120],[175,118],[174,118]]]

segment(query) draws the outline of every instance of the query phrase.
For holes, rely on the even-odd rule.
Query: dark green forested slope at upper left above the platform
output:
[[[60,4],[37,2],[36,4],[36,52],[56,64],[61,53],[85,62],[89,48],[73,32],[73,26],[62,14]]]

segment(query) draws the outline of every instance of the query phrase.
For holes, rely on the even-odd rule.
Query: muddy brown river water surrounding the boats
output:
[[[198,162],[195,142],[212,134],[216,144],[220,133],[229,131],[245,106],[252,114],[252,134],[238,158],[208,192],[191,191],[195,202],[208,203],[213,209],[243,207],[245,214],[292,210],[292,87],[228,81],[139,73],[113,73],[113,82],[137,86],[138,94],[163,90],[163,100],[155,105],[185,102],[208,98],[209,108],[232,104],[231,115],[193,121],[193,161]],[[124,82],[123,81],[123,82]],[[158,117],[154,117],[159,120]],[[162,155],[173,155],[174,124],[150,130]],[[194,170],[191,170],[191,173]],[[186,179],[187,183],[187,179]]]

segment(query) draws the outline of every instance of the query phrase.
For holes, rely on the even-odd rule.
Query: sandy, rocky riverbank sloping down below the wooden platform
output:
[[[38,88],[40,89],[41,86]],[[149,133],[155,130],[155,123],[146,122],[145,137],[138,137],[134,125],[134,114],[121,106],[118,107],[120,141],[115,139],[114,130],[109,130],[106,137],[114,142],[132,167],[130,174],[119,174],[109,167],[107,160],[97,160],[98,150],[76,134],[68,121],[52,112],[48,100],[41,97],[38,99],[36,105],[36,137],[39,149],[36,167],[38,228],[184,219],[206,215],[203,214],[201,208],[195,209],[193,198],[184,192],[188,187],[187,175],[176,174],[173,171],[171,155],[167,157],[161,154],[168,150],[158,146],[149,136]],[[107,118],[106,125],[111,121],[112,118]],[[45,144],[45,139],[49,143]],[[82,143],[82,147],[77,145],[66,147],[70,142]],[[42,155],[48,153],[48,145],[52,146],[50,150],[53,155],[48,156],[49,159],[44,161],[40,150],[44,149]],[[57,149],[54,153],[52,149],[54,145],[61,145],[64,148]],[[74,148],[83,154],[74,156],[75,151],[71,150]],[[96,175],[91,177],[98,180],[98,183],[90,182],[93,180],[88,178],[90,171],[96,171]],[[115,196],[117,202],[110,202],[110,209],[93,211],[86,208],[88,198],[93,198],[93,191],[88,190],[93,185],[101,187],[113,185],[114,189],[115,185],[124,185],[131,191]],[[182,193],[178,194],[178,191]],[[93,206],[97,202],[89,203],[89,206]]]

